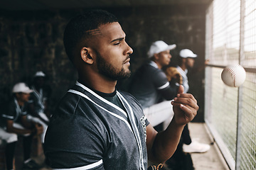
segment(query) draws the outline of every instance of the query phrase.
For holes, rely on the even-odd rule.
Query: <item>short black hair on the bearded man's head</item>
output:
[[[90,37],[90,31],[95,30],[106,23],[118,22],[116,16],[104,10],[85,11],[82,15],[75,16],[65,27],[63,42],[65,52],[71,62],[73,62],[73,54],[75,47],[83,40]]]

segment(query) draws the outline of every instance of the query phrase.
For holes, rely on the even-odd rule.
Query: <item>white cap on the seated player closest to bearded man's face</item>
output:
[[[166,50],[174,50],[176,48],[176,45],[168,45],[166,42],[162,40],[158,40],[152,43],[152,45],[149,48],[148,55],[149,57],[153,57],[154,54],[158,54],[159,52],[163,52]]]

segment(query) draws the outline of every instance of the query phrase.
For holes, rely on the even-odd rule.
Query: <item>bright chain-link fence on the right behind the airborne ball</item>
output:
[[[256,1],[214,0],[206,13],[205,118],[230,169],[256,169]],[[229,64],[247,72],[239,88],[220,75]]]

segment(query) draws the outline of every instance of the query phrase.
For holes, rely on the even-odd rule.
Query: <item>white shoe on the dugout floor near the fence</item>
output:
[[[210,145],[199,143],[197,141],[191,142],[190,145],[183,144],[183,152],[185,153],[203,153],[210,149]]]

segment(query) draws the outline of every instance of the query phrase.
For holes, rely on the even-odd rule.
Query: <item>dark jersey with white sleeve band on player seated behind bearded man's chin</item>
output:
[[[129,92],[142,104],[142,108],[148,108],[164,98],[160,91],[166,91],[169,94],[166,100],[171,100],[176,95],[177,89],[177,86],[174,88],[170,86],[166,74],[155,62],[150,61],[142,65],[134,74]]]

